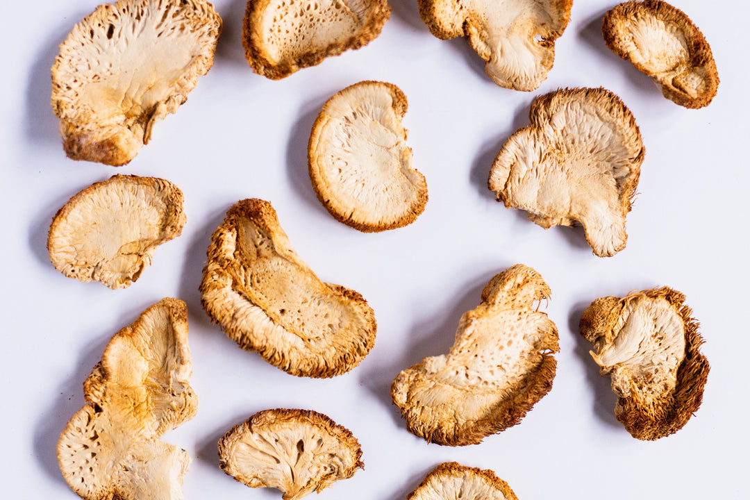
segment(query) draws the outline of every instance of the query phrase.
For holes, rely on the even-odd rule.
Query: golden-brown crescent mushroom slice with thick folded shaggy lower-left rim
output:
[[[292,249],[269,202],[237,202],[211,236],[200,284],[208,316],[242,349],[296,376],[356,367],[375,342],[365,298],[323,283]]]

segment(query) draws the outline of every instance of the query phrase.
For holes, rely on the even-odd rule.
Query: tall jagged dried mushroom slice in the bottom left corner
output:
[[[190,457],[158,438],[193,418],[187,307],[164,298],[118,331],[60,434],[57,458],[81,498],[181,499]]]

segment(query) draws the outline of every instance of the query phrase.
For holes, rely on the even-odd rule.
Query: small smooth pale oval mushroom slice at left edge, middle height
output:
[[[160,178],[114,175],[92,184],[52,219],[49,259],[65,276],[126,288],[156,247],[181,234],[182,202],[182,192]]]

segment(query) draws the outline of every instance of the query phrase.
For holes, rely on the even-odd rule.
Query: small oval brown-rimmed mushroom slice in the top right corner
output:
[[[711,47],[682,10],[665,1],[625,1],[607,12],[601,32],[610,50],[651,76],[667,99],[701,108],[716,95]]]

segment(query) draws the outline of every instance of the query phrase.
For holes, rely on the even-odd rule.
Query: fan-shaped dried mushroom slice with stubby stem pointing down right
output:
[[[600,257],[625,248],[645,152],[631,112],[604,88],[573,88],[537,97],[529,118],[490,169],[498,201],[544,229],[580,223]]]

